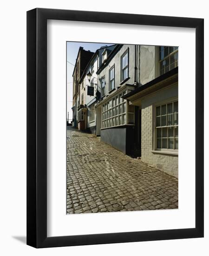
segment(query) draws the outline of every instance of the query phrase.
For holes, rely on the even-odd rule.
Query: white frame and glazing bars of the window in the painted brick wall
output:
[[[167,116],[171,115],[171,114],[167,113],[167,105],[172,103],[172,108],[173,108],[174,102],[176,102],[176,101],[178,102],[177,98],[176,99],[172,99],[170,101],[163,101],[161,103],[158,103],[158,104],[154,105],[154,110],[155,110],[154,111],[154,150],[156,150],[158,152],[164,151],[164,152],[167,152],[167,153],[169,153],[169,152],[171,152],[171,153],[178,153],[178,149],[175,148],[175,138],[178,139],[178,135],[175,136],[175,128],[178,128],[178,124],[176,124],[176,125],[174,124],[174,114],[178,115],[178,112],[174,113],[174,110],[173,110],[173,112],[172,112],[172,115],[173,115],[172,116],[172,119],[173,119],[172,123],[173,124],[172,125],[168,125],[168,123],[167,123]],[[166,105],[166,114],[165,115],[158,115],[157,116],[157,113],[156,113],[157,112],[156,111],[157,107],[159,107],[159,106],[161,107],[163,105]],[[161,117],[161,116],[166,116],[166,125],[165,126],[161,126],[161,125],[157,126],[156,119],[157,119],[157,117]],[[172,136],[169,137],[169,135],[168,135],[168,128],[172,128],[172,127],[173,127],[173,137]],[[161,137],[159,137],[159,138],[157,137],[157,129],[158,128],[161,129]],[[163,133],[163,128],[167,128],[167,136],[166,137],[163,137],[163,134],[162,134]],[[167,148],[162,148],[163,138],[167,139]],[[161,139],[161,148],[157,148],[157,139]],[[169,139],[173,139],[173,148],[168,148],[168,141],[169,141]]]

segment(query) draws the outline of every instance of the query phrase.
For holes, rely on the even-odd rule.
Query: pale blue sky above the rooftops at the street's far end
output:
[[[78,49],[81,46],[86,51],[96,52],[97,49],[105,45],[110,46],[112,44],[67,42],[67,112],[69,112],[69,122],[72,120],[72,73],[78,55]]]

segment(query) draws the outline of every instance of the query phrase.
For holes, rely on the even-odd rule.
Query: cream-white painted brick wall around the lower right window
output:
[[[142,100],[142,161],[165,173],[178,177],[178,156],[151,152],[154,149],[155,104],[172,100],[178,95],[178,86],[151,94]]]

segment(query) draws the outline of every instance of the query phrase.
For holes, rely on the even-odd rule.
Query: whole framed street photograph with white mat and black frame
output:
[[[27,244],[203,237],[203,19],[27,12]]]

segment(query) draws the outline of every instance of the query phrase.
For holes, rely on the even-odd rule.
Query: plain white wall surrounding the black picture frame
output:
[[[122,1],[123,2],[123,1]],[[189,5],[189,8],[188,8]],[[111,10],[110,10],[111,6]],[[153,241],[141,243],[120,243],[109,245],[89,245],[78,247],[63,247],[51,249],[33,249],[25,244],[26,236],[26,11],[35,7],[139,13],[152,15],[168,15],[182,17],[199,17],[205,19],[205,85],[209,84],[209,16],[207,1],[176,0],[174,8],[170,8],[167,0],[146,1],[130,0],[129,4],[119,4],[117,1],[106,0],[100,4],[97,0],[71,1],[65,0],[31,0],[5,1],[2,3],[0,41],[1,73],[0,82],[4,85],[0,94],[1,148],[3,156],[0,169],[3,170],[0,179],[1,211],[0,239],[2,255],[158,255],[189,256],[208,254],[209,243],[209,101],[205,100],[205,237],[198,239],[180,239],[168,241]],[[9,10],[9,11],[7,11]],[[15,40],[18,38],[19,40]],[[14,64],[18,61],[18,65]],[[12,77],[14,82],[11,82]],[[206,98],[207,97],[207,98]],[[205,86],[205,99],[209,97],[209,87]],[[13,123],[11,123],[13,120]],[[11,136],[12,135],[12,136]],[[207,183],[206,183],[207,182]],[[15,238],[16,237],[16,238]]]

